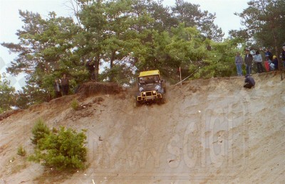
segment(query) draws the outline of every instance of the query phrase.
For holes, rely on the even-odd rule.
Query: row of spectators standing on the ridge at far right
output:
[[[264,51],[264,55],[265,55],[265,62],[264,62],[265,70],[266,71],[277,70],[278,69],[278,59],[276,55],[272,55],[269,48],[266,48],[266,50]],[[285,45],[282,47],[281,60],[285,67]],[[252,75],[253,63],[256,65],[258,73],[264,72],[262,61],[263,61],[262,56],[259,53],[259,50],[257,50],[254,55],[249,53],[248,49],[245,50],[244,58],[242,58],[240,53],[237,53],[235,57],[235,64],[237,66],[237,75],[243,76],[242,74],[243,63],[246,65],[246,71],[247,71],[246,75]]]

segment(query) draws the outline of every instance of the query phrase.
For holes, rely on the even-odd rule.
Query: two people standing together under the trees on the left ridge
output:
[[[69,90],[69,80],[66,77],[66,74],[63,74],[61,80],[56,79],[53,83],[54,91],[56,93],[56,98],[61,97],[62,95],[67,95]]]

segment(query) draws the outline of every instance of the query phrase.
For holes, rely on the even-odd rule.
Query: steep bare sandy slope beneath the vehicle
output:
[[[53,99],[0,121],[0,183],[285,183],[285,80],[276,73],[193,80],[167,88],[167,103],[134,107],[132,92]],[[103,102],[98,102],[100,99]],[[86,171],[48,172],[31,128],[88,129]],[[100,140],[99,140],[100,137]]]

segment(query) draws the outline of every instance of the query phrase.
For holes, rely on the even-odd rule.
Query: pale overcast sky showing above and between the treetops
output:
[[[55,11],[58,16],[71,16],[72,11],[68,9],[70,0],[0,0],[0,43],[17,43],[15,35],[21,29],[23,23],[19,18],[19,9],[40,13],[43,18],[48,16],[48,12]],[[241,13],[247,8],[249,0],[185,0],[192,4],[199,4],[200,10],[216,13],[215,24],[217,24],[226,34],[231,29],[241,28],[240,18],[234,16],[234,12]],[[173,6],[175,0],[164,0],[165,5]],[[5,68],[16,55],[10,55],[8,50],[0,45],[0,73],[5,72]],[[14,79],[13,79],[14,80]],[[19,85],[12,84],[11,85]]]

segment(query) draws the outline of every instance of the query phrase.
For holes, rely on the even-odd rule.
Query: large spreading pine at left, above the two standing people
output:
[[[18,57],[7,70],[14,75],[26,73],[26,87],[19,92],[16,105],[26,108],[30,104],[48,102],[53,93],[53,81],[63,72],[80,65],[71,60],[73,36],[78,26],[71,18],[56,17],[49,13],[43,19],[38,13],[19,11],[25,26],[17,31],[19,43],[1,43]]]

